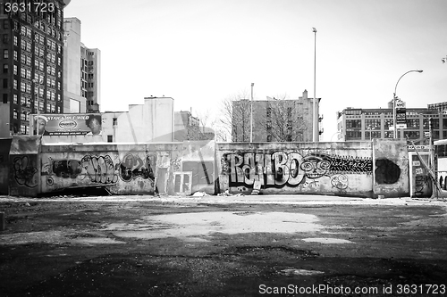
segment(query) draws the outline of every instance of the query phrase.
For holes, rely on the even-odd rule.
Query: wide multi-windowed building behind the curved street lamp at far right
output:
[[[430,119],[433,140],[447,138],[447,103],[428,104],[427,108],[406,108],[407,128],[398,129],[397,138],[410,139],[415,144],[428,144]],[[337,136],[339,141],[362,141],[373,138],[394,137],[392,101],[388,108],[346,108],[337,112]]]

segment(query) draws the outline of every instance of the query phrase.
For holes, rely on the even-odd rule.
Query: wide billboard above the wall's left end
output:
[[[41,136],[102,135],[102,117],[100,113],[34,114],[30,131]]]

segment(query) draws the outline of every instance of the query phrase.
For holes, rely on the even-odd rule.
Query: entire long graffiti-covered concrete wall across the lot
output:
[[[403,141],[51,144],[41,143],[40,137],[13,137],[9,194],[36,196],[90,186],[106,187],[112,194],[153,194],[156,187],[161,194],[251,194],[254,189],[363,197],[410,193]],[[6,170],[0,163],[0,178],[2,166]],[[420,190],[417,164],[411,166],[412,193],[428,195]]]

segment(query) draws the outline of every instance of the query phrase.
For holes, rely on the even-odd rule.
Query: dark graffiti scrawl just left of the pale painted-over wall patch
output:
[[[151,179],[154,181],[155,173],[152,167],[156,165],[156,156],[148,154],[141,159],[139,155],[127,154],[118,166],[119,175],[123,181],[129,182],[135,178]]]

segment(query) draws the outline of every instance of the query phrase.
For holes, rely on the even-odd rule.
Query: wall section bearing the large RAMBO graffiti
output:
[[[220,191],[371,196],[370,143],[218,144]]]

